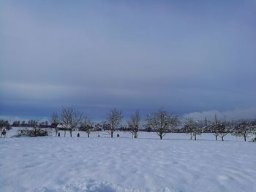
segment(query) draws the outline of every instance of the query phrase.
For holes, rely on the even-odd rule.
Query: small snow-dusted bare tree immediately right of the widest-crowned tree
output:
[[[185,131],[190,134],[190,139],[192,140],[192,137],[194,139],[197,139],[197,135],[202,134],[203,131],[203,125],[202,123],[198,123],[197,121],[193,120],[193,118],[187,118],[184,125]]]

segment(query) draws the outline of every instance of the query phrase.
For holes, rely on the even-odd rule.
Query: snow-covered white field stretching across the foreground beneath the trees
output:
[[[0,191],[256,191],[255,143],[119,134],[0,139]]]

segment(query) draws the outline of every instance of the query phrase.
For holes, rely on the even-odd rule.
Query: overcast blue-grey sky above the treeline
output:
[[[0,1],[0,116],[256,118],[255,52],[255,0]]]

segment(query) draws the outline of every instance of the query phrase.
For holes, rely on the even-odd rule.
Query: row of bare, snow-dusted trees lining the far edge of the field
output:
[[[106,121],[102,124],[103,129],[107,129],[110,133],[110,137],[113,137],[114,131],[121,126],[121,120],[123,118],[122,111],[113,109],[108,112]],[[69,131],[70,137],[72,137],[72,131],[79,128],[80,131],[86,131],[87,136],[90,136],[91,131],[95,130],[95,125],[88,117],[83,117],[83,114],[74,107],[63,107],[61,112],[53,112],[51,126],[58,134],[59,129]],[[140,111],[136,111],[131,115],[126,123],[126,130],[131,131],[132,138],[138,137],[139,128],[143,126],[146,130],[154,131],[162,139],[165,134],[178,127],[180,132],[190,134],[190,139],[197,139],[197,135],[204,132],[212,133],[217,140],[218,137],[224,141],[227,134],[233,134],[239,137],[244,137],[244,141],[249,134],[255,134],[256,138],[256,123],[249,123],[242,121],[235,123],[233,121],[227,121],[225,119],[218,118],[215,115],[213,121],[204,120],[197,121],[192,118],[186,118],[182,121],[182,118],[177,115],[173,115],[166,110],[157,110],[152,114],[147,115],[145,123],[141,123]]]

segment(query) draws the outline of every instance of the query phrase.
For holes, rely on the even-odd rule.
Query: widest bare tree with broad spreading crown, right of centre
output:
[[[146,121],[146,126],[156,131],[160,139],[162,139],[162,137],[164,137],[167,132],[179,124],[178,117],[171,115],[165,110],[158,110],[157,112],[148,115]]]

